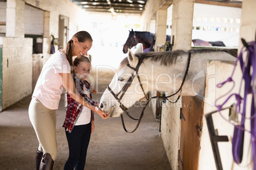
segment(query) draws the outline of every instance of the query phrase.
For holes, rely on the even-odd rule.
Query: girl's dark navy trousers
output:
[[[65,128],[66,129],[66,128]],[[74,126],[71,133],[66,131],[68,140],[69,157],[64,170],[83,170],[90,141],[91,124]]]

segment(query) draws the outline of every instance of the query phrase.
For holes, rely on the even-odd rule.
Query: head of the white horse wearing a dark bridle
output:
[[[136,53],[142,50],[142,48],[138,48]],[[110,114],[110,117],[120,116],[124,112],[122,107],[129,108],[134,105],[136,101],[145,97],[139,86],[140,82],[136,77],[136,74],[138,74],[136,68],[138,68],[139,58],[137,58],[130,49],[128,49],[128,51],[129,55],[121,62],[110,85],[104,91],[103,96],[101,96],[99,103],[101,110],[106,114]],[[144,90],[145,93],[148,92],[148,89]],[[122,107],[120,107],[120,105]]]

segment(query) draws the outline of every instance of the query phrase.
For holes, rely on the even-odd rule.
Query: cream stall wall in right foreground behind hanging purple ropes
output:
[[[220,96],[225,95],[230,89],[232,89],[232,82],[228,82],[222,88],[217,88],[217,84],[224,82],[228,77],[231,76],[232,70],[234,69],[234,62],[221,62],[221,61],[211,61],[208,63],[208,69],[206,74],[206,89],[204,98],[204,115],[217,110],[215,107],[215,100],[220,98]],[[225,74],[223,74],[225,72]],[[234,89],[223,98],[217,101],[217,105],[222,105],[227,97],[232,93],[239,93],[239,86],[241,82],[241,69],[236,67],[234,76],[232,79],[235,82]],[[243,88],[241,90],[241,95],[243,96]],[[250,100],[248,100],[250,102]],[[230,107],[233,103],[236,103],[234,96],[225,103],[223,108]],[[224,110],[221,112],[226,120],[229,120],[229,110]],[[218,149],[220,151],[220,158],[222,160],[223,169],[245,169],[251,161],[250,155],[250,135],[245,133],[245,144],[244,144],[244,156],[241,166],[238,166],[233,161],[232,157],[232,136],[234,133],[234,126],[225,121],[223,117],[217,112],[212,115],[214,128],[217,129],[218,135],[227,136],[229,138],[228,142],[218,142]],[[250,113],[248,115],[250,117]],[[247,121],[250,124],[249,121]],[[215,161],[213,157],[213,151],[211,148],[210,136],[208,133],[208,126],[205,117],[203,117],[203,133],[201,136],[201,150],[199,154],[199,169],[216,169]],[[251,166],[246,166],[246,169],[252,169]]]

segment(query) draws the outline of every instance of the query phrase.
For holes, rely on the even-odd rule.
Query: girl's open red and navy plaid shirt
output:
[[[90,89],[90,84],[87,81],[81,81],[75,74],[73,74],[73,79],[75,82],[76,91],[86,100],[89,105],[96,106],[97,101],[92,100],[92,90]],[[90,97],[85,95],[83,91],[83,86],[90,91]],[[62,127],[67,128],[66,131],[71,133],[76,120],[83,110],[83,105],[78,103],[78,101],[71,98],[71,96],[67,93],[68,106],[66,108],[66,119]],[[91,119],[94,121],[94,112],[91,110]]]

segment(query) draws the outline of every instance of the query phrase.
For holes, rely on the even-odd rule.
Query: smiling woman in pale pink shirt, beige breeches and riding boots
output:
[[[107,119],[98,104],[91,105],[76,92],[71,76],[73,56],[87,55],[92,47],[92,37],[86,31],[77,32],[66,44],[65,49],[54,53],[45,63],[29,105],[29,119],[36,132],[39,147],[36,151],[36,169],[53,169],[57,155],[56,110],[59,107],[63,87],[71,98]]]

